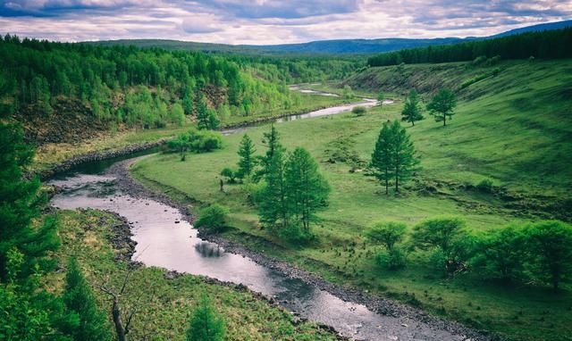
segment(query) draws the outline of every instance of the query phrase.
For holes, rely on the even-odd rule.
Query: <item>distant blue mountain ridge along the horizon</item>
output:
[[[123,39],[88,42],[103,46],[139,46],[143,48],[161,47],[167,50],[192,50],[207,53],[233,53],[233,54],[379,54],[383,52],[397,51],[404,48],[423,47],[456,44],[475,39],[489,39],[493,37],[506,37],[510,35],[534,32],[548,29],[564,29],[572,26],[570,21],[549,22],[520,29],[511,29],[490,37],[442,37],[433,39],[409,39],[400,37],[388,37],[380,39],[335,39],[318,40],[300,44],[281,45],[226,45],[197,43],[180,40],[166,39]]]

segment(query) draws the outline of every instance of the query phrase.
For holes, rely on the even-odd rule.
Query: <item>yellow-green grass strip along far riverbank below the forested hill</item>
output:
[[[253,116],[231,116],[223,125],[231,126],[247,121],[255,121],[270,117],[279,117],[289,113],[309,112],[324,107],[341,104],[341,98],[315,96],[301,94],[301,102],[291,109],[283,109],[276,112],[265,112]],[[127,130],[116,134],[103,133],[97,138],[92,138],[81,143],[50,143],[40,146],[37,149],[34,163],[30,167],[32,171],[47,170],[60,162],[68,160],[74,156],[87,154],[94,151],[122,149],[126,146],[136,145],[145,142],[153,142],[162,138],[175,137],[186,131],[190,123],[184,127],[168,127],[162,129],[139,129]]]

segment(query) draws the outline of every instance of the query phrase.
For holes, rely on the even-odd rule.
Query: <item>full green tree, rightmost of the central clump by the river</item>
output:
[[[288,191],[289,214],[298,220],[306,233],[315,211],[324,207],[330,186],[318,170],[318,165],[306,149],[298,147],[290,154],[284,170]]]

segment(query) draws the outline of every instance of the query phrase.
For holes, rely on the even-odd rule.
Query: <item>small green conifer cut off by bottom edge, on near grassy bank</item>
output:
[[[214,312],[208,297],[203,295],[190,318],[187,341],[223,341],[224,334],[223,318]]]

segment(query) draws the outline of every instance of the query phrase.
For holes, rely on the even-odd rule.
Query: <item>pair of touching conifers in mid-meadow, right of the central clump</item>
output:
[[[399,192],[400,183],[411,177],[418,163],[415,146],[400,122],[383,123],[370,165],[375,178],[385,185],[385,194],[389,195],[391,180],[395,184],[395,191]]]

